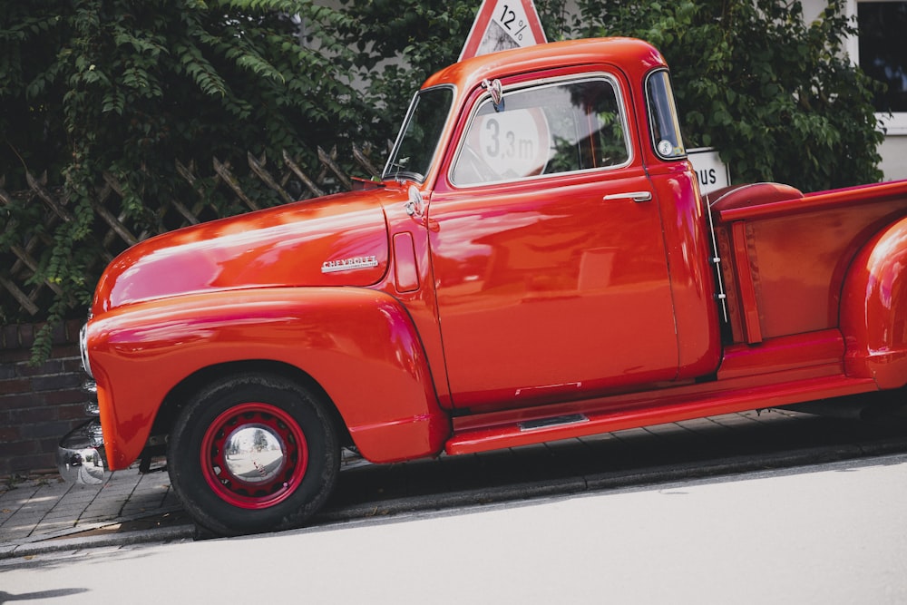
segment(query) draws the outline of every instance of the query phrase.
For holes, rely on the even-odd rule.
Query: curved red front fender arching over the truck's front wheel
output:
[[[211,292],[121,307],[89,322],[88,349],[112,470],[138,457],[176,385],[247,360],[311,376],[374,462],[436,454],[450,434],[409,316],[367,288]]]

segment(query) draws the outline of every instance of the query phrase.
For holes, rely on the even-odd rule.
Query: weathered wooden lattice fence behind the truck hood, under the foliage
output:
[[[263,205],[260,202],[262,196],[249,194],[249,183],[252,181],[258,187],[267,188],[271,199],[266,205],[350,190],[353,180],[341,169],[340,163],[353,164],[356,176],[371,178],[377,176],[378,170],[369,156],[370,153],[353,145],[351,158],[354,161],[345,157],[345,161],[339,162],[336,149],[327,152],[319,148],[318,171],[307,172],[286,151],[279,164],[269,164],[267,158],[257,158],[248,153],[248,168],[234,167],[229,161],[213,158],[210,169],[203,175],[202,169],[194,163],[184,165],[177,160],[175,168],[185,181],[185,194],[168,200],[154,200],[153,205],[146,204],[153,210],[154,216],[138,225],[127,220],[122,211],[122,183],[111,174],[104,174],[103,183],[92,201],[95,215],[92,243],[100,244],[96,248],[101,251],[94,266],[87,272],[94,276],[100,274],[102,268],[122,250],[157,233],[217,219],[224,214],[258,210]],[[12,207],[14,203],[23,202],[36,204],[41,207],[44,229],[34,234],[22,234],[23,226],[15,219],[7,220],[5,225],[0,226],[6,236],[12,236],[6,239],[15,241],[0,247],[0,324],[11,320],[44,319],[52,301],[64,294],[58,284],[48,280],[37,281],[34,276],[44,251],[54,245],[54,228],[63,221],[73,220],[69,200],[63,190],[47,186],[46,174],[36,178],[26,172],[25,179],[29,186],[27,190],[9,193],[5,191],[5,179],[0,175],[0,207]],[[211,195],[212,188],[218,190],[221,199],[227,199],[226,204],[218,207],[210,201],[214,197]],[[225,212],[225,208],[229,210]]]

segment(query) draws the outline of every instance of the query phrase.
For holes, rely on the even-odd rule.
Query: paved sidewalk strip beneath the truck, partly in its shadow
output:
[[[485,454],[350,465],[314,523],[900,452],[907,452],[900,421],[776,410],[721,415]],[[192,539],[195,527],[163,461],[152,471],[135,466],[96,486],[64,483],[56,474],[0,483],[0,559]]]

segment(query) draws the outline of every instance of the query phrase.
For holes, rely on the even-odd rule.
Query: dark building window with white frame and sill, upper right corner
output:
[[[888,134],[907,134],[907,2],[856,0],[849,5],[859,30],[851,46],[853,59],[888,87],[875,96],[879,117]]]

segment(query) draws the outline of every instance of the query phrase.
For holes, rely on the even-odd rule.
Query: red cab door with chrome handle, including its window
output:
[[[657,200],[618,78],[480,99],[429,206],[453,405],[503,408],[671,380]]]

